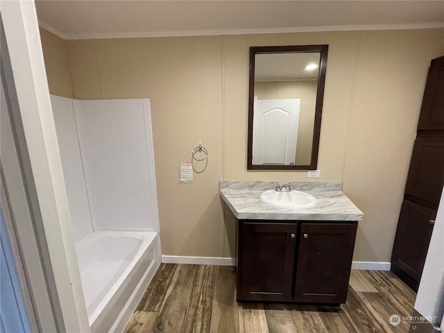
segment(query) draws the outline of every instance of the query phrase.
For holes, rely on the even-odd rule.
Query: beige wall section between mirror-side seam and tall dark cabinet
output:
[[[427,70],[444,31],[364,33],[350,100],[344,191],[366,214],[355,260],[390,261]]]

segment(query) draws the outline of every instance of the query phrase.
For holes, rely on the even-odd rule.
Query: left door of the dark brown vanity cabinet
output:
[[[237,300],[293,300],[296,223],[239,221]]]

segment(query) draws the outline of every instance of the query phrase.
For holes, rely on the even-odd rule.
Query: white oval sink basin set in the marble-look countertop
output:
[[[275,191],[269,189],[261,194],[262,202],[267,205],[285,208],[310,208],[316,205],[316,198],[301,191]]]

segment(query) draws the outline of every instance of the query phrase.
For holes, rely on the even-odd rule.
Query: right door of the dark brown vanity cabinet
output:
[[[296,302],[345,303],[357,223],[301,223]]]

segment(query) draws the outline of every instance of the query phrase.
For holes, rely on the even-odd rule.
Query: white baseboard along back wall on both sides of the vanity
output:
[[[234,258],[222,257],[183,257],[179,255],[162,255],[165,264],[195,264],[234,266]],[[352,262],[352,269],[390,271],[390,262]]]

